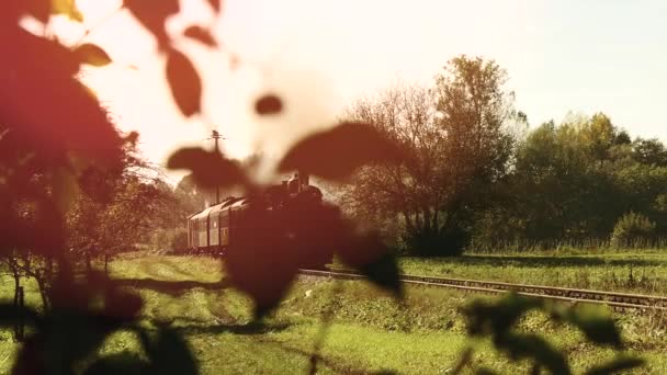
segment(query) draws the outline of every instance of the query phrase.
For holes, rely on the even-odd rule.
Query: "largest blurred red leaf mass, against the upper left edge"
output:
[[[74,77],[77,55],[16,29],[7,37],[21,48],[0,59],[0,123],[46,164],[63,164],[66,154],[120,162],[121,139],[108,113]]]

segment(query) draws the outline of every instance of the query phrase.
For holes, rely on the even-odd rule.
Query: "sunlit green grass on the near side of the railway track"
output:
[[[410,263],[411,262],[411,263]],[[430,261],[429,261],[430,262]],[[406,260],[404,268],[418,264]],[[431,263],[423,263],[431,264]],[[433,263],[436,264],[436,263]],[[195,287],[179,292],[165,289],[161,282],[214,283],[222,277],[219,262],[205,258],[125,258],[112,264],[117,279],[132,280],[145,299],[144,323],[168,321],[188,339],[200,361],[202,374],[298,374],[305,373],[324,311],[335,311],[323,360],[321,374],[396,371],[400,374],[445,374],[466,345],[465,323],[460,308],[472,295],[446,289],[408,287],[403,304],[383,292],[359,282],[341,282],[342,292],[331,281],[302,277],[276,312],[263,326],[249,325],[251,305],[233,288]],[[479,277],[479,276],[476,276]],[[26,300],[37,305],[34,284],[26,284]],[[0,297],[11,295],[11,283],[2,280]],[[637,373],[667,373],[667,318],[665,316],[619,315],[618,323],[629,342],[629,351],[649,360]],[[521,329],[542,332],[564,349],[581,373],[609,359],[610,350],[584,344],[580,333],[556,327],[543,316],[530,316]],[[500,373],[525,373],[525,364],[509,363],[495,354],[488,343],[478,346],[475,364]],[[9,371],[16,350],[9,332],[0,332],[0,374]],[[121,332],[110,338],[102,354],[136,352],[137,341]]]

